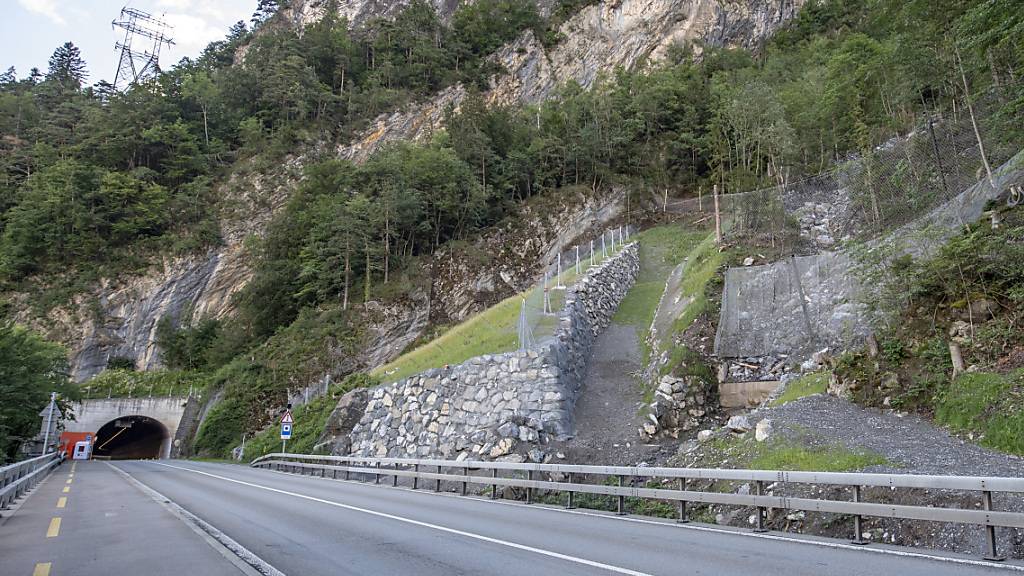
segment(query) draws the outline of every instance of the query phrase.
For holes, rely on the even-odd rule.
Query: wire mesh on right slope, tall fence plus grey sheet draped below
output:
[[[866,335],[872,287],[857,280],[865,265],[857,254],[897,244],[901,253],[929,252],[1019,190],[1020,142],[987,138],[985,125],[966,111],[929,116],[828,172],[720,196],[724,242],[770,247],[775,261],[727,271],[716,355],[806,354]],[[698,203],[666,209],[714,214],[714,199]]]

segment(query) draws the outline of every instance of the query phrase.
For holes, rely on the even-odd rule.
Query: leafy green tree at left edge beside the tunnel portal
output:
[[[68,353],[20,326],[0,324],[0,464],[40,428],[39,412],[57,393],[61,408],[78,399],[68,380]]]

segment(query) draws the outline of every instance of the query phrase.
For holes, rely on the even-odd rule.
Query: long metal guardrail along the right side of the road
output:
[[[655,466],[593,466],[578,464],[531,464],[513,462],[480,462],[455,461],[409,458],[359,458],[348,456],[322,456],[311,454],[272,453],[253,460],[254,467],[272,468],[283,471],[315,475],[326,477],[330,471],[333,478],[344,472],[345,480],[351,475],[367,475],[380,483],[381,478],[390,477],[392,485],[397,486],[399,478],[413,480],[413,489],[419,486],[421,480],[434,481],[434,490],[440,491],[441,482],[461,484],[461,492],[466,495],[470,484],[480,484],[490,487],[490,497],[499,498],[498,487],[515,487],[526,489],[526,502],[534,500],[535,490],[552,490],[566,492],[568,501],[566,507],[575,507],[575,494],[604,494],[617,497],[617,512],[625,515],[626,498],[650,498],[670,500],[677,503],[677,522],[689,522],[686,506],[690,502],[709,504],[727,504],[737,506],[753,506],[757,508],[757,526],[755,531],[766,532],[765,522],[768,508],[805,510],[813,512],[831,512],[850,515],[853,517],[855,544],[867,544],[861,537],[862,517],[890,518],[901,520],[920,520],[928,522],[970,524],[985,528],[985,560],[1002,561],[995,543],[996,528],[1024,529],[1024,513],[999,511],[992,509],[992,493],[1024,494],[1024,478],[989,478],[967,476],[921,476],[921,475],[886,475],[886,474],[855,474],[855,472],[814,472],[814,471],[783,471],[783,470],[746,470],[723,468],[672,468]],[[433,471],[421,470],[422,467],[435,468]],[[442,470],[458,470],[458,474],[444,474]],[[490,470],[490,476],[472,476],[475,470]],[[525,474],[525,478],[510,478],[500,476],[501,471]],[[537,480],[538,472],[563,475],[567,480]],[[577,482],[580,477],[603,476],[617,480],[614,486],[606,484],[582,484]],[[647,488],[626,486],[627,479],[673,479],[678,481],[676,489]],[[696,480],[734,481],[754,483],[754,494],[734,494],[690,490],[688,483]],[[766,494],[770,484],[816,484],[831,486],[847,486],[853,489],[852,500],[828,500],[815,498],[793,498]],[[862,500],[863,488],[918,488],[929,490],[958,490],[980,492],[984,509],[946,508],[931,506],[915,506],[905,504],[886,504],[865,502]]]

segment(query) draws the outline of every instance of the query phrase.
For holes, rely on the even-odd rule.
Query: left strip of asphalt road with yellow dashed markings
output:
[[[104,462],[65,462],[5,516],[2,576],[242,574]]]

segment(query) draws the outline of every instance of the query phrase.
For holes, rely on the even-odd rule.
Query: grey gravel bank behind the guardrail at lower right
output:
[[[914,415],[861,408],[817,395],[751,414],[752,424],[772,419],[785,434],[811,433],[811,444],[841,443],[882,454],[902,467],[891,471],[956,476],[1024,476],[1024,458],[987,450],[961,440]],[[797,431],[794,431],[796,428]],[[802,436],[808,442],[806,436]],[[882,471],[878,469],[876,471]]]

